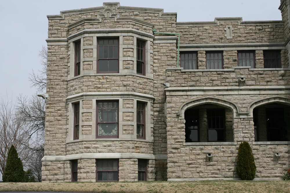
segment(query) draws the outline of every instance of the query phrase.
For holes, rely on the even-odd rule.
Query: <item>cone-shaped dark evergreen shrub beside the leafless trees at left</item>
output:
[[[7,155],[6,166],[2,176],[3,182],[24,182],[24,174],[22,161],[12,145]]]

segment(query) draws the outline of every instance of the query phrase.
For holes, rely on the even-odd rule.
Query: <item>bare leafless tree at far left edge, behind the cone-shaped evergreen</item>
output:
[[[0,100],[0,172],[3,174],[7,160],[8,151],[14,145],[22,161],[31,156],[31,151],[23,145],[29,142],[26,135],[25,125],[14,113],[12,101]]]

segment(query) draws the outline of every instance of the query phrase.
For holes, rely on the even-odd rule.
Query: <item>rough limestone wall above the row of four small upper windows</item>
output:
[[[284,42],[284,25],[238,25],[238,22],[219,22],[219,26],[178,26],[180,44],[206,43],[272,43]],[[233,38],[226,39],[226,25],[233,27]]]

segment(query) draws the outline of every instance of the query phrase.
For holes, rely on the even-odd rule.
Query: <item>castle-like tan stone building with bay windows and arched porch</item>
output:
[[[120,6],[48,16],[44,182],[256,179],[290,166],[290,2],[282,21],[176,22]]]

